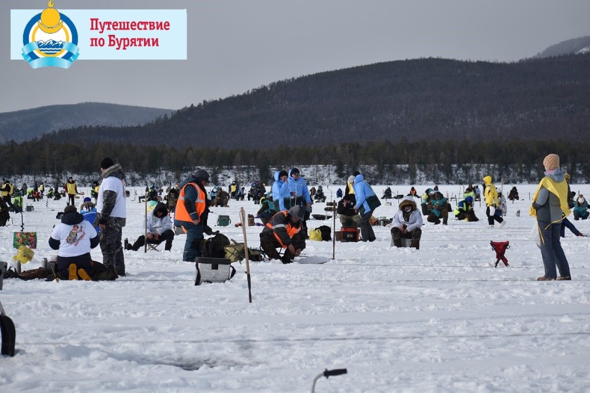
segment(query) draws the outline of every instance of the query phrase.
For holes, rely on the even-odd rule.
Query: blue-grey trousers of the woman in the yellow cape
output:
[[[541,232],[541,256],[545,266],[545,277],[557,278],[556,265],[560,276],[569,276],[568,259],[565,257],[559,241],[561,223],[549,224],[549,222],[539,221],[539,230]]]

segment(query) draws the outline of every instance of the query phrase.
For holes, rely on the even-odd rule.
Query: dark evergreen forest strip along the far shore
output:
[[[563,139],[510,142],[408,142],[402,139],[395,144],[378,140],[363,145],[356,142],[326,146],[281,145],[271,149],[198,149],[193,146],[178,149],[163,145],[137,148],[130,143],[58,143],[35,139],[0,145],[0,175],[8,178],[46,175],[60,179],[77,173],[97,177],[101,159],[109,156],[120,163],[125,172],[137,173],[138,181],[162,172],[181,180],[183,173],[195,168],[209,168],[217,181],[222,169],[251,167],[257,178],[271,182],[276,168],[331,165],[341,181],[363,167],[363,171],[371,174],[373,184],[465,184],[477,182],[481,171],[503,178],[504,182],[534,183],[543,174],[543,157],[557,153],[562,168],[571,173],[572,182],[584,183],[590,173],[589,148],[590,143]],[[252,172],[248,170],[248,173]]]

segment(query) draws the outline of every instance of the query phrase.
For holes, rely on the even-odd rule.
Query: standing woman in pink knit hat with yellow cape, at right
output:
[[[568,183],[559,168],[559,156],[550,154],[543,159],[545,177],[533,195],[529,214],[537,218],[541,239],[541,256],[545,274],[537,281],[571,280],[568,259],[559,241],[561,221],[571,213],[568,207]],[[562,214],[563,212],[563,214]],[[559,269],[559,277],[555,266]]]

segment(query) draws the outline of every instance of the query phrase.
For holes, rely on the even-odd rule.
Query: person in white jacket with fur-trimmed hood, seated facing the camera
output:
[[[412,239],[410,247],[420,248],[422,237],[422,213],[412,196],[405,196],[399,202],[399,211],[391,221],[391,238],[395,247],[402,247],[402,238]]]

